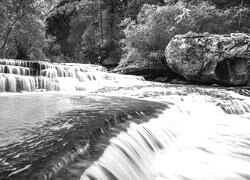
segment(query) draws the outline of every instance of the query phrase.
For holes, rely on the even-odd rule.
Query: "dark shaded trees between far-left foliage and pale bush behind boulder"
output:
[[[124,36],[121,21],[136,17],[145,3],[165,4],[163,0],[63,0],[47,20],[47,32],[56,37],[64,56],[75,61],[117,63]]]

